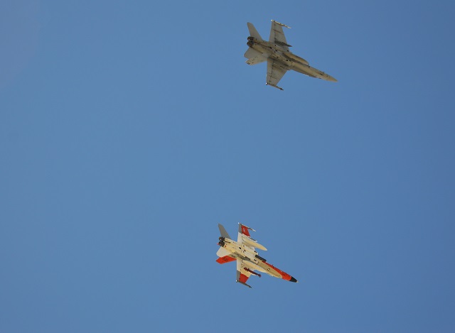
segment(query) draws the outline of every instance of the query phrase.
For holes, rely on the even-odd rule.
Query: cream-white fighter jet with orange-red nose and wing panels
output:
[[[263,251],[267,251],[267,249],[250,237],[249,230],[255,231],[254,229],[239,224],[237,241],[233,241],[222,224],[218,224],[218,228],[220,229],[221,236],[218,241],[220,249],[218,249],[216,254],[220,258],[216,261],[218,263],[237,261],[237,283],[241,283],[242,285],[251,288],[250,285],[247,285],[247,280],[250,278],[250,275],[257,275],[259,278],[261,277],[261,274],[256,273],[255,271],[267,273],[275,278],[297,282],[291,275],[270,265],[262,256],[257,254],[255,248]]]

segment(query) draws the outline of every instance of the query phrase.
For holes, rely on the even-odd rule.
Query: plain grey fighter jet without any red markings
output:
[[[316,68],[309,65],[308,61],[289,51],[291,45],[287,43],[282,28],[290,28],[289,26],[272,20],[270,38],[267,42],[261,38],[252,23],[248,22],[247,25],[250,31],[247,45],[250,48],[245,52],[244,57],[248,59],[246,61],[248,65],[256,65],[267,60],[267,80],[265,84],[283,90],[277,84],[288,70],[295,70],[310,77],[337,82],[335,78],[321,70],[316,70]]]

